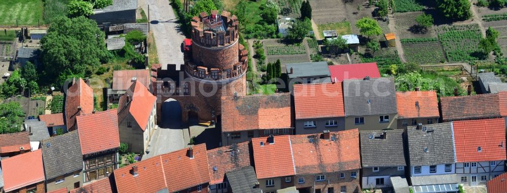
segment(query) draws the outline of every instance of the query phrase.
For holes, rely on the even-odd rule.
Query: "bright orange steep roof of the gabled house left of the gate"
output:
[[[129,96],[127,96],[127,94]],[[129,97],[132,99],[130,102],[128,102]],[[118,109],[120,110],[119,113],[122,114],[122,111],[128,110],[139,127],[141,127],[142,131],[144,131],[146,130],[156,101],[157,97],[153,96],[153,94],[139,81],[136,81],[135,84],[132,84],[129,90],[120,97],[120,103],[118,105]],[[122,120],[120,120],[120,122],[121,121]]]

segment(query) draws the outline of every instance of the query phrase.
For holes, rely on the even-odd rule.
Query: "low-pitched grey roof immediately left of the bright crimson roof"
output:
[[[291,72],[292,74],[289,73]],[[308,77],[308,76],[331,76],[327,62],[304,62],[285,64],[285,72],[288,78]]]

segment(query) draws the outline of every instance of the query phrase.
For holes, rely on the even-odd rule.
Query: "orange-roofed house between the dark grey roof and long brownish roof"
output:
[[[396,106],[398,129],[439,122],[439,102],[435,91],[396,92]]]

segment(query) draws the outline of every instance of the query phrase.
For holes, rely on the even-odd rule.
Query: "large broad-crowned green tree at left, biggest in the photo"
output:
[[[112,55],[104,38],[97,23],[83,16],[56,19],[41,40],[46,79],[52,83],[67,70],[68,74],[84,74],[87,68],[106,63]]]

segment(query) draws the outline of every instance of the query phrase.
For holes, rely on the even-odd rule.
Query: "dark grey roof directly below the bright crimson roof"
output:
[[[345,116],[397,112],[396,90],[392,78],[344,80],[343,99]]]

